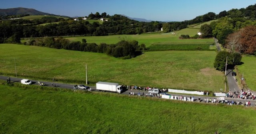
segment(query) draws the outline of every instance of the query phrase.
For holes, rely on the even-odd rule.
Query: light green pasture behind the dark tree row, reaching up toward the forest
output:
[[[149,47],[152,44],[209,44],[214,43],[213,39],[179,39],[179,35],[190,35],[194,36],[197,34],[198,29],[182,29],[176,31],[177,36],[172,33],[152,33],[152,34],[141,34],[141,35],[109,35],[109,36],[81,36],[81,37],[66,37],[70,41],[82,41],[86,39],[87,43],[107,43],[116,44],[121,40],[136,40],[139,44],[145,44]]]

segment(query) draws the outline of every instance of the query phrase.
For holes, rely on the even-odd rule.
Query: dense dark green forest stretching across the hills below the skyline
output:
[[[11,16],[11,18],[13,17],[21,16]],[[10,16],[1,16],[1,18],[10,18]],[[230,44],[231,39],[230,34],[239,33],[239,37],[244,37],[246,35],[240,33],[242,33],[242,31],[244,30],[250,30],[246,28],[247,26],[255,27],[256,4],[248,6],[247,8],[222,11],[219,14],[209,12],[202,16],[197,16],[192,20],[186,20],[182,22],[139,22],[128,19],[127,17],[118,14],[115,14],[114,16],[109,16],[105,12],[101,15],[98,12],[96,12],[95,14],[91,13],[87,17],[87,19],[100,18],[106,18],[108,19],[108,21],[103,21],[103,23],[100,24],[98,22],[89,23],[89,21],[82,19],[80,19],[80,21],[74,21],[74,19],[72,18],[63,19],[52,16],[45,16],[42,17],[42,19],[34,20],[2,20],[0,21],[0,43],[20,43],[20,38],[30,37],[59,37],[67,35],[105,36],[115,34],[141,34],[147,32],[160,31],[161,28],[163,29],[162,32],[167,33],[187,28],[189,24],[202,23],[218,19],[217,21],[213,21],[212,23],[210,23],[210,25],[202,25],[202,35],[194,36],[193,38],[216,37],[217,39],[219,39],[219,43],[224,45],[224,47],[229,48],[228,44]],[[40,25],[43,23],[49,24]],[[181,38],[186,39],[188,37],[183,35]],[[241,44],[245,42],[246,41],[241,40],[239,43]],[[236,48],[234,50],[239,50],[239,52],[246,54],[256,54],[256,50],[244,50],[241,48]]]

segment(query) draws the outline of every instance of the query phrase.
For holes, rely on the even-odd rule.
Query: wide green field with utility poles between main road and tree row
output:
[[[224,89],[223,73],[213,68],[214,51],[145,52],[122,60],[102,53],[58,50],[46,47],[0,44],[0,73],[35,80],[85,83],[117,82],[124,85],[198,89]]]

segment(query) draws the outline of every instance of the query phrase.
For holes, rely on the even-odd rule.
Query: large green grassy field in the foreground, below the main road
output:
[[[16,85],[17,86],[17,85]],[[254,108],[0,84],[3,134],[254,134]],[[63,89],[62,89],[63,90]]]

